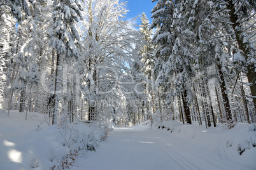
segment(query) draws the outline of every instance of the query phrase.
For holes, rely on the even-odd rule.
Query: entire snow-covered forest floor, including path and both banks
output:
[[[51,169],[73,149],[98,145],[104,137],[83,123],[64,132],[48,126],[43,114],[29,113],[25,121],[24,113],[12,111],[8,117],[0,111],[0,169]],[[144,122],[114,128],[96,152],[80,152],[69,169],[256,169],[255,142],[256,124],[227,130]]]

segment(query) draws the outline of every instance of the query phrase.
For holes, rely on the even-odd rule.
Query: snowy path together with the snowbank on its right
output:
[[[115,128],[97,152],[78,159],[71,169],[256,169],[255,124],[231,130],[163,124],[169,131],[145,123]],[[242,155],[239,144],[247,147]]]

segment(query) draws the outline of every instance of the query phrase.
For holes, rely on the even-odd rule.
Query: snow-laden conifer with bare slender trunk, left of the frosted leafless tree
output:
[[[49,30],[50,45],[57,53],[54,87],[54,112],[52,124],[57,124],[57,110],[60,95],[60,65],[67,58],[78,58],[80,35],[76,29],[79,18],[82,19],[82,5],[78,0],[64,0],[53,2],[52,28]]]

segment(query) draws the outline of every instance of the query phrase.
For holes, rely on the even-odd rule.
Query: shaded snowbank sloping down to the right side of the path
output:
[[[225,162],[227,169],[256,168],[256,124],[238,123],[232,129],[218,124],[216,128],[206,129],[205,126],[164,121],[154,124],[154,128],[183,143],[181,147],[195,157],[217,159],[216,164]]]

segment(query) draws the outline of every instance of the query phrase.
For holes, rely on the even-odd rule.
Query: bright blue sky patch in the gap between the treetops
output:
[[[129,10],[129,12],[125,16],[127,19],[134,18],[138,15],[141,15],[143,12],[145,12],[146,16],[148,17],[148,20],[150,20],[150,23],[151,23],[152,18],[151,18],[150,11],[153,9],[156,2],[152,3],[152,0],[126,0],[126,1],[127,1],[126,9]],[[137,20],[138,20],[137,23],[139,24],[140,18],[138,18]]]

